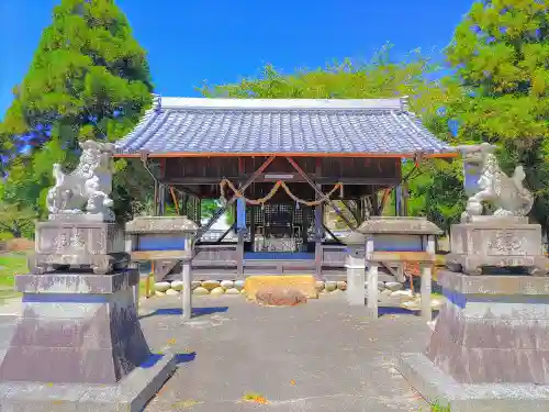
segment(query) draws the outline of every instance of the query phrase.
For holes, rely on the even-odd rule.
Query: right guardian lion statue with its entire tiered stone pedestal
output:
[[[447,302],[425,353],[404,354],[399,369],[429,402],[452,412],[547,411],[549,277],[541,231],[527,223],[533,198],[522,185],[524,170],[505,176],[492,152],[482,145],[466,153],[466,163],[472,154],[481,159],[479,191],[451,227],[450,270],[438,272]],[[482,202],[491,202],[494,214],[482,215]]]

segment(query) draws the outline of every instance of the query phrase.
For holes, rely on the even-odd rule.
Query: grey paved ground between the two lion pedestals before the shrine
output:
[[[428,407],[394,369],[402,352],[421,352],[428,326],[412,314],[368,321],[344,296],[293,308],[262,308],[242,297],[195,298],[181,324],[179,297],[141,307],[155,350],[180,354],[173,377],[145,412],[419,412]],[[0,356],[13,316],[0,316]],[[243,401],[258,393],[267,404]]]

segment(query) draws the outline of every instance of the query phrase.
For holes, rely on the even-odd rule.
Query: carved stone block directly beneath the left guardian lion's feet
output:
[[[122,227],[89,220],[86,215],[40,222],[35,249],[29,258],[33,274],[82,267],[94,274],[110,274],[126,268],[130,261]]]

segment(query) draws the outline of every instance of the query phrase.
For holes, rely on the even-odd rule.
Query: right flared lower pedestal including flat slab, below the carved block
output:
[[[549,278],[441,271],[448,300],[400,371],[452,412],[549,410]]]

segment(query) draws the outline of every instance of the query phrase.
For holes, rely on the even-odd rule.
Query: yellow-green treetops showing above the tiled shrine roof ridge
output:
[[[300,70],[283,76],[272,66],[265,67],[259,79],[244,79],[236,85],[201,88],[205,97],[258,99],[371,99],[410,96],[412,109],[423,118],[435,116],[445,105],[450,92],[457,90],[451,81],[427,80],[426,75],[439,67],[414,51],[403,62],[391,56],[391,45],[378,52],[371,62],[341,64]]]

